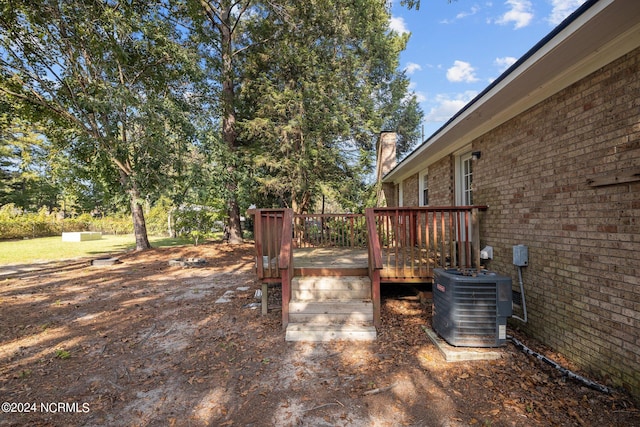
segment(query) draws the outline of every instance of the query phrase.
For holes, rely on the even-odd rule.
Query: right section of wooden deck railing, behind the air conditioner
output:
[[[384,282],[424,282],[434,268],[480,265],[478,211],[486,206],[375,208]]]

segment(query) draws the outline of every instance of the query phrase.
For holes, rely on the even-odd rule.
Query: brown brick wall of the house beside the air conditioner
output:
[[[640,170],[639,75],[640,49],[473,141],[489,267],[517,285],[512,246],[529,247],[529,323],[512,325],[636,396],[640,182],[595,187],[588,178]]]

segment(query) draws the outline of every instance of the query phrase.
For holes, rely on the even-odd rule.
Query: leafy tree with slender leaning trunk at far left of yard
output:
[[[141,201],[167,184],[191,141],[199,64],[171,1],[16,0],[0,8],[0,92],[46,122],[78,172]],[[26,111],[26,110],[25,110]]]

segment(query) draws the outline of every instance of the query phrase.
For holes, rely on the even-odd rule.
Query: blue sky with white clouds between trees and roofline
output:
[[[585,0],[393,0],[391,28],[409,32],[400,66],[424,111],[425,138]]]

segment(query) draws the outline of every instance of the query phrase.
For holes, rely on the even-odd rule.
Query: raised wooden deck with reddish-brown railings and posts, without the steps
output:
[[[378,326],[380,283],[430,282],[434,268],[480,265],[478,214],[486,208],[368,208],[363,215],[255,209],[256,274],[263,290],[281,283],[285,327],[295,277],[368,276]]]

